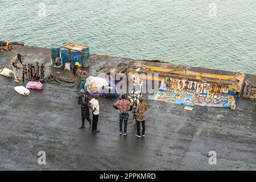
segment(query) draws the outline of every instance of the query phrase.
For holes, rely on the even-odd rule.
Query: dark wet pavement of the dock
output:
[[[14,47],[0,51],[0,68],[9,67],[17,52],[25,63],[39,61],[49,68],[49,49]],[[91,75],[102,65],[133,60],[92,55]],[[182,65],[148,63],[185,68]],[[8,65],[8,66],[6,66]],[[207,72],[203,68],[190,68]],[[68,74],[68,73],[67,73]],[[60,74],[61,75],[61,74]],[[246,75],[247,81],[256,76]],[[74,88],[44,84],[28,97],[15,92],[13,78],[0,76],[0,169],[1,170],[255,170],[256,108],[254,101],[237,101],[237,109],[193,106],[146,100],[146,137],[137,138],[129,118],[127,137],[119,136],[117,99],[100,98],[100,133],[81,125],[80,106]],[[39,165],[39,151],[46,152],[46,165]],[[216,151],[217,164],[210,165],[209,151]]]

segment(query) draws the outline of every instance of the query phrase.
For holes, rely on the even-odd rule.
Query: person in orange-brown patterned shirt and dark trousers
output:
[[[145,122],[146,122],[146,110],[147,104],[143,102],[143,97],[139,98],[139,104],[137,106],[137,133],[135,133],[136,137],[141,137],[141,124],[142,124],[142,137],[145,137]]]

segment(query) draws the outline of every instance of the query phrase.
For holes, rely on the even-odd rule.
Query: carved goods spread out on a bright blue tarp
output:
[[[236,109],[236,94],[229,86],[167,78],[162,80],[155,100],[184,105]]]

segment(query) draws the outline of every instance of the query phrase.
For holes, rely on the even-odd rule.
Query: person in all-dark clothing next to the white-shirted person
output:
[[[89,125],[92,125],[92,121],[90,119],[89,101],[89,97],[86,95],[84,89],[81,89],[78,104],[81,105],[82,126],[79,129],[85,127],[85,119],[89,122]]]

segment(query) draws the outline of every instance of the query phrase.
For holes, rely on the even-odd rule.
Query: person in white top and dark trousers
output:
[[[92,132],[98,133],[100,132],[100,130],[97,129],[98,116],[100,115],[100,103],[98,102],[98,94],[96,94],[89,103],[93,114]]]

